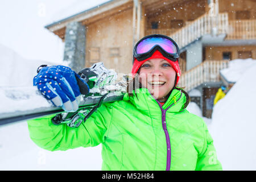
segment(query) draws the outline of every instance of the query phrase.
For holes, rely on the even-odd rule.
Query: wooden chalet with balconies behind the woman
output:
[[[181,49],[179,86],[188,92],[199,90],[201,96],[192,100],[210,117],[210,102],[224,84],[220,69],[233,59],[256,59],[255,7],[256,0],[112,0],[46,28],[68,47],[68,37],[74,36],[68,26],[79,23],[84,31],[82,36],[75,33],[72,41],[82,42],[82,67],[102,61],[106,68],[125,74],[131,71],[133,46],[139,39],[170,36]]]

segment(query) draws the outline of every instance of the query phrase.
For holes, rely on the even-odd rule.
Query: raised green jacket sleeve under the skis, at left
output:
[[[104,142],[104,134],[112,119],[110,106],[101,105],[77,128],[54,125],[55,115],[27,121],[30,138],[41,148],[49,151],[68,150],[77,147],[92,147]]]

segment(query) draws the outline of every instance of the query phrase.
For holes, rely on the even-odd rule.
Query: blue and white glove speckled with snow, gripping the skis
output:
[[[33,85],[55,106],[61,106],[67,112],[75,112],[79,108],[80,96],[89,93],[85,80],[69,67],[55,65],[38,68]]]

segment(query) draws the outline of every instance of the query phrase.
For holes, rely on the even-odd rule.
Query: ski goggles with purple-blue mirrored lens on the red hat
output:
[[[159,50],[164,57],[171,61],[177,61],[180,50],[176,42],[165,35],[154,34],[145,36],[135,45],[133,57],[138,61],[143,61]],[[134,60],[133,60],[134,61]]]

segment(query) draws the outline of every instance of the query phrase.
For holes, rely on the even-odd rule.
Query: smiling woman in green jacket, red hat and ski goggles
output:
[[[103,170],[221,170],[207,126],[176,87],[178,58],[174,40],[146,36],[134,47],[122,101],[103,104],[76,129],[53,125],[54,115],[28,121],[31,139],[50,151],[102,143]]]

